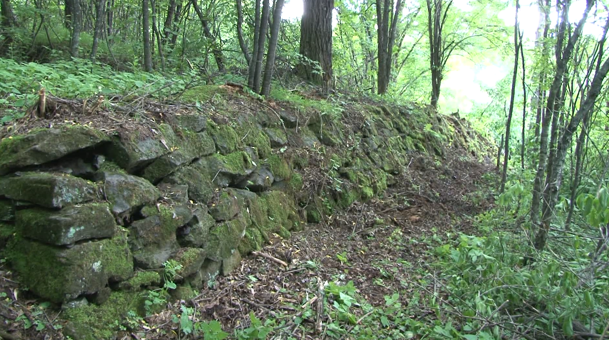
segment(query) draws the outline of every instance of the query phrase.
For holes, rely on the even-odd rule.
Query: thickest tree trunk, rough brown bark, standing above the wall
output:
[[[298,74],[309,82],[331,88],[332,79],[332,10],[334,0],[304,0],[300,19],[300,54]],[[319,68],[317,64],[319,63]]]

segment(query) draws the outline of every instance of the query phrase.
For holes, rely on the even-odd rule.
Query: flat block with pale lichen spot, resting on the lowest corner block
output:
[[[111,238],[116,221],[104,203],[83,204],[55,211],[44,208],[18,210],[16,225],[23,236],[65,246],[85,239]]]

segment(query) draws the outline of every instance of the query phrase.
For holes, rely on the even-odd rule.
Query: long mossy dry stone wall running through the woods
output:
[[[409,154],[477,152],[460,119],[360,109],[351,121],[278,109],[180,115],[120,136],[76,125],[4,138],[0,246],[42,299],[137,309],[135,292],[162,285],[166,261],[181,265],[180,286],[200,289],[272,233],[382,194]],[[320,188],[299,173],[313,159]]]

